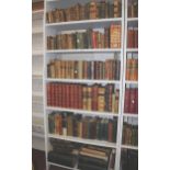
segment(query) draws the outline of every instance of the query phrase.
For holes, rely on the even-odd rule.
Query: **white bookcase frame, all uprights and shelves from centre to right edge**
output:
[[[88,2],[89,0],[84,0]],[[72,3],[80,2],[78,0],[73,1],[57,1],[57,0],[45,0],[45,10],[44,10],[44,18],[46,16],[46,12],[54,10],[55,8],[67,8],[70,7]],[[127,18],[127,0],[122,0],[122,18],[117,19],[100,19],[100,20],[83,20],[83,21],[69,21],[69,22],[59,22],[59,23],[46,23],[44,20],[44,70],[43,70],[43,79],[44,79],[44,116],[45,116],[45,149],[46,149],[46,170],[49,170],[49,166],[63,167],[66,169],[73,169],[66,167],[64,165],[57,165],[48,161],[48,151],[50,149],[49,138],[56,138],[67,141],[80,143],[80,144],[89,144],[99,147],[109,147],[115,149],[115,167],[114,169],[109,170],[121,170],[121,151],[123,148],[137,150],[137,146],[128,146],[122,144],[122,136],[123,136],[123,121],[124,117],[134,117],[138,118],[137,114],[124,113],[124,100],[125,100],[125,86],[132,84],[138,87],[138,81],[135,80],[126,80],[125,79],[125,71],[126,71],[126,54],[127,53],[138,53],[137,48],[127,48],[127,26],[129,24],[138,25],[138,18]],[[125,12],[125,13],[124,13]],[[63,32],[69,31],[78,31],[78,30],[86,30],[86,29],[98,29],[109,26],[111,23],[121,23],[122,25],[122,43],[121,48],[97,48],[97,49],[47,49],[47,36],[60,34]],[[37,52],[36,49],[34,52]],[[39,49],[38,52],[43,52]],[[53,59],[71,59],[71,60],[104,60],[103,58],[112,58],[113,54],[118,54],[118,59],[121,60],[121,77],[120,80],[91,80],[91,79],[68,79],[68,78],[48,78],[47,77],[47,65]],[[79,83],[79,84],[106,84],[113,83],[120,89],[120,103],[118,103],[118,113],[109,113],[109,112],[99,112],[99,111],[86,111],[80,109],[68,109],[68,107],[60,107],[60,106],[49,106],[47,105],[47,89],[46,86],[49,82],[60,82],[60,83]],[[65,136],[65,135],[57,135],[57,134],[49,134],[48,132],[48,114],[53,111],[57,112],[72,112],[79,113],[81,115],[88,116],[104,116],[107,118],[117,117],[117,136],[116,143],[109,143],[102,140],[92,140],[92,139],[83,139],[79,137],[72,136]]]

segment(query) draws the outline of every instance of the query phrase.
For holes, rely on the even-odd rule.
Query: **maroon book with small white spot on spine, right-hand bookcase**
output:
[[[131,88],[131,94],[129,94],[129,113],[135,113],[136,111],[136,93],[135,88]]]

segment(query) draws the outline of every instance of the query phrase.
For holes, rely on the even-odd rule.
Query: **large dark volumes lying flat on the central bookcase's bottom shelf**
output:
[[[48,152],[48,161],[70,168],[78,162],[77,167],[81,170],[107,170],[112,149],[52,138],[49,140],[53,149]],[[115,154],[112,159],[115,159]]]

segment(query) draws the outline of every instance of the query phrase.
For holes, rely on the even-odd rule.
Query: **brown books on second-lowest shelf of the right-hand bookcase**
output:
[[[127,122],[124,122],[122,143],[132,146],[138,145],[138,125],[133,125]]]

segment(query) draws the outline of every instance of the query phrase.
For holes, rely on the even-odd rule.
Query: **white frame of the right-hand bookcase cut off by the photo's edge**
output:
[[[138,151],[138,146],[133,146],[133,145],[125,145],[123,144],[123,132],[124,132],[124,121],[129,121],[132,125],[137,125],[138,126],[138,113],[125,113],[125,90],[126,90],[126,86],[131,87],[131,88],[137,88],[138,89],[138,78],[136,80],[126,80],[126,68],[127,68],[127,56],[128,54],[136,54],[136,59],[138,59],[138,48],[137,47],[128,47],[128,27],[131,26],[136,26],[138,27],[138,18],[135,16],[131,16],[128,15],[128,10],[129,10],[129,4],[133,2],[133,0],[125,0],[125,39],[124,39],[124,75],[123,75],[123,98],[122,98],[122,114],[120,116],[121,120],[121,134],[120,134],[120,143],[121,143],[121,148],[120,148],[120,158],[121,158],[121,162],[120,162],[120,168],[121,170],[122,168],[122,150],[123,149],[127,149],[127,150],[135,150]],[[136,4],[137,4],[137,9],[138,9],[138,0],[136,0]],[[138,13],[138,12],[137,12]],[[138,35],[137,35],[137,39],[138,39]],[[137,42],[138,45],[138,42]],[[134,56],[133,56],[134,57]],[[137,70],[138,70],[138,65],[137,65]],[[138,95],[137,95],[137,100],[138,100]],[[132,102],[132,101],[131,101]],[[138,105],[138,104],[137,104]],[[127,122],[128,122],[127,121]],[[137,136],[138,138],[138,136]],[[136,158],[138,160],[138,157]],[[132,160],[133,163],[134,160]],[[128,162],[129,163],[129,162]],[[136,166],[138,167],[138,166]],[[125,169],[123,169],[125,170]],[[137,170],[137,169],[136,169]]]

